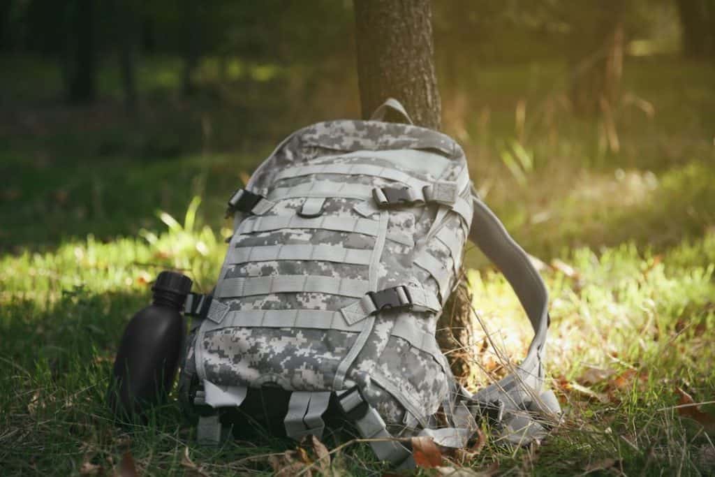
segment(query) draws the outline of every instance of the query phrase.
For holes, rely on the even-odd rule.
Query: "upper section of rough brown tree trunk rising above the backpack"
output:
[[[355,36],[363,118],[393,97],[440,129],[430,0],[355,0]]]

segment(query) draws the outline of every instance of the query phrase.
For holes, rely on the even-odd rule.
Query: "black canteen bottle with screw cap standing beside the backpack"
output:
[[[180,273],[159,273],[152,304],[129,321],[109,383],[109,408],[117,418],[141,418],[165,402],[181,358],[186,333],[181,311],[191,286]]]

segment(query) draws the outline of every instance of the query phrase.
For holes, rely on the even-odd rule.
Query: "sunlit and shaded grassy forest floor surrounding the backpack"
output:
[[[159,64],[148,91],[169,82],[170,65]],[[443,87],[445,127],[465,145],[475,182],[541,260],[551,292],[548,374],[565,411],[563,425],[541,446],[515,450],[488,440],[469,465],[488,469],[496,462],[508,475],[711,474],[714,406],[697,412],[675,406],[687,402],[683,392],[696,403],[715,398],[715,69],[676,59],[626,64],[617,150],[603,124],[560,106],[562,74],[558,64],[490,67]],[[6,91],[16,91],[13,79],[3,81]],[[107,473],[127,452],[147,475],[197,468],[209,475],[268,474],[270,455],[295,448],[269,437],[199,448],[177,405],[133,428],[114,426],[104,406],[122,328],[147,303],[157,272],[178,268],[209,289],[228,233],[223,203],[242,173],[290,129],[318,114],[353,112],[348,105],[327,114],[322,105],[298,119],[295,111],[281,116],[276,104],[285,98],[275,92],[287,81],[279,76],[256,87],[277,96],[264,118],[254,114],[262,111],[256,102],[219,107],[207,96],[177,103],[154,93],[140,124],[111,99],[70,111],[39,101],[26,87],[23,102],[6,100],[4,475]],[[514,119],[520,101],[521,124]],[[241,122],[248,117],[255,120]],[[269,124],[273,118],[278,124]],[[467,262],[476,310],[501,353],[518,360],[530,335],[516,299],[478,252],[469,250]],[[477,386],[485,382],[478,370],[498,374],[503,363],[482,346],[483,335],[474,345]],[[337,441],[326,444],[335,448]],[[347,446],[332,461],[335,473],[385,470],[365,444]]]

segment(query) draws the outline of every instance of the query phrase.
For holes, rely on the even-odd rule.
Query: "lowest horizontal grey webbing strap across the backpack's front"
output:
[[[233,310],[220,321],[208,320],[202,331],[220,328],[312,328],[317,330],[340,330],[358,332],[360,323],[347,323],[342,313],[328,310]]]

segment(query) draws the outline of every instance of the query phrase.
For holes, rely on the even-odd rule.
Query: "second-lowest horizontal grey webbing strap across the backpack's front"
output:
[[[323,277],[321,275],[271,275],[269,277],[226,278],[216,287],[219,298],[310,292],[345,297],[361,297],[369,290],[367,280]]]

